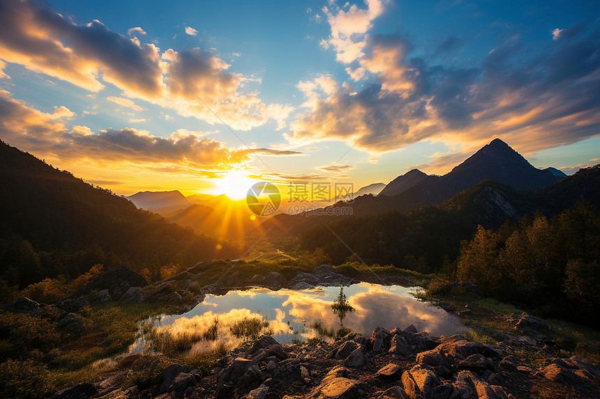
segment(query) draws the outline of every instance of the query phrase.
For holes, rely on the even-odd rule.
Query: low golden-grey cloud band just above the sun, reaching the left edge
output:
[[[87,160],[96,164],[111,162],[216,170],[248,162],[253,154],[301,155],[297,151],[270,148],[228,148],[219,141],[203,138],[203,132],[187,130],[160,137],[130,127],[96,133],[86,126],[76,125],[69,129],[63,117],[69,112],[65,107],[57,107],[54,114],[46,114],[13,99],[8,91],[0,90],[0,136],[22,150],[55,157],[62,162]],[[55,114],[61,117],[57,118]]]

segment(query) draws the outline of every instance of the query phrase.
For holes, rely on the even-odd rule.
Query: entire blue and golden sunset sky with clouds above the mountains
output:
[[[358,189],[495,138],[572,174],[600,163],[600,3],[3,0],[0,116],[123,195]]]

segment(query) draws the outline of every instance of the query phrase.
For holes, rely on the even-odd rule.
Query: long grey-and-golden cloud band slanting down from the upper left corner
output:
[[[136,27],[128,33],[142,30]],[[245,88],[260,79],[227,72],[229,65],[207,51],[167,49],[161,54],[156,45],[127,38],[98,20],[75,24],[32,0],[0,2],[0,57],[94,93],[114,84],[125,97],[208,123],[223,121],[237,130],[250,130],[271,119],[283,128],[290,109],[264,104],[257,92]]]

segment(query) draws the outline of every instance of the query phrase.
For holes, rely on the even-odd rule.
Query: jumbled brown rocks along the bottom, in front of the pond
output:
[[[133,363],[130,355],[121,363]],[[350,333],[332,343],[280,345],[271,336],[244,343],[209,375],[173,364],[160,386],[124,387],[131,370],[78,384],[60,398],[597,398],[600,368],[577,357],[524,366],[497,347],[464,336],[436,338],[414,326],[369,338]]]

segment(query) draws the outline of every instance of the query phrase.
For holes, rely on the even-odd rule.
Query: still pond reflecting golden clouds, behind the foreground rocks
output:
[[[344,304],[351,309],[347,313],[334,312],[331,307],[339,302],[339,287],[230,291],[225,295],[207,295],[204,302],[187,313],[149,320],[145,329],[151,324],[154,333],[158,332],[163,338],[186,337],[190,352],[211,350],[223,342],[233,348],[262,334],[272,334],[279,343],[296,343],[315,337],[327,340],[341,327],[367,337],[375,327],[404,329],[410,324],[433,336],[465,331],[455,316],[410,295],[416,290],[419,288],[370,283],[343,287],[347,298]],[[153,337],[158,341],[156,334]],[[130,352],[148,349],[148,341],[152,341],[148,334],[142,336]]]

